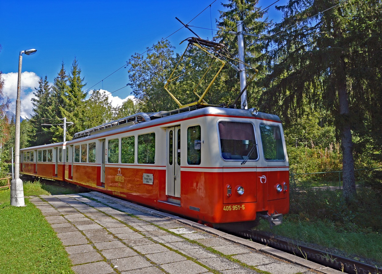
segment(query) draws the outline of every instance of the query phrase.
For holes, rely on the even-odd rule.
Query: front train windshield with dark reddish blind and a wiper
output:
[[[257,160],[257,144],[252,123],[220,121],[218,127],[220,149],[224,160],[243,163]]]

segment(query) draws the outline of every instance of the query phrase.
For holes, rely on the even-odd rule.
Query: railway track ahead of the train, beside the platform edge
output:
[[[361,263],[353,259],[328,253],[326,251],[317,250],[308,246],[291,243],[286,240],[262,234],[256,231],[237,232],[236,236],[245,237],[254,242],[277,248],[291,254],[295,254],[302,258],[314,261],[329,268],[337,269],[349,274],[381,274],[382,268],[377,268],[369,264]]]

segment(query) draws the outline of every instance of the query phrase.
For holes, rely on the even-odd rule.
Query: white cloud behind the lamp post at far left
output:
[[[10,111],[16,112],[16,97],[17,97],[17,78],[18,73],[10,72],[2,75],[4,79],[3,92],[5,96],[11,99]],[[38,88],[40,77],[34,72],[24,71],[21,73],[20,87],[20,115],[21,117],[31,118],[32,102],[34,98],[34,88]]]

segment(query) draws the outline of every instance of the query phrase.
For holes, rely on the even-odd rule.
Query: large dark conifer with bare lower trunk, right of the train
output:
[[[306,109],[331,113],[341,140],[343,196],[347,201],[356,196],[352,131],[364,126],[357,103],[363,101],[364,87],[357,83],[376,79],[371,73],[358,73],[358,58],[367,55],[364,43],[370,34],[361,21],[370,14],[376,16],[370,11],[378,7],[380,10],[377,0],[290,0],[279,7],[283,20],[275,24],[267,39],[265,56],[270,73],[263,82],[262,108],[279,112],[287,122],[301,117]],[[365,31],[369,33],[361,37],[359,33]],[[374,31],[380,41],[380,28]],[[367,67],[372,60],[367,57],[362,61]]]

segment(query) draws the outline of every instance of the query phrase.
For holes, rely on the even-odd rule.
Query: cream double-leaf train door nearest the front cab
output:
[[[166,195],[180,197],[180,126],[167,128]]]

